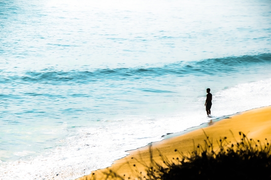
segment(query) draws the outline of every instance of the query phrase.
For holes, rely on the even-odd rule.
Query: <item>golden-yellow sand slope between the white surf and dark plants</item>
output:
[[[206,135],[213,140],[214,146],[218,146],[216,141],[224,137],[227,137],[229,143],[236,142],[240,139],[239,131],[254,140],[264,141],[265,138],[271,140],[271,106],[237,113],[227,119],[211,122],[208,125],[201,129],[152,143],[153,159],[158,163],[162,162],[160,154],[168,159],[176,158],[179,153],[175,152],[175,149],[184,154],[192,152],[195,145],[204,144]],[[111,167],[93,171],[91,175],[77,180],[105,180],[104,172],[108,173],[109,171],[115,172],[125,179],[128,179],[128,177],[135,179],[137,175],[135,172],[145,172],[145,165],[150,164],[149,146],[128,153],[130,154],[126,157],[114,161]]]

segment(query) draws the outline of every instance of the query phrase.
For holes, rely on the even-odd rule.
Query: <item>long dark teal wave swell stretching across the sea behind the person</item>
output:
[[[92,71],[52,71],[26,72],[24,76],[2,77],[5,82],[19,80],[25,83],[91,83],[98,80],[140,79],[144,77],[162,76],[204,76],[239,72],[248,66],[271,63],[271,53],[244,55],[239,57],[223,57],[204,59],[202,61],[179,61],[162,67],[137,67],[116,69],[95,69]]]

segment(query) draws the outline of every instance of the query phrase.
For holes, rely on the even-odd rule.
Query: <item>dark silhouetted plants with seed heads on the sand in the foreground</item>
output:
[[[194,151],[188,155],[174,150],[172,154],[176,157],[168,159],[160,154],[163,163],[153,160],[150,145],[150,165],[136,159],[145,166],[145,172],[138,172],[136,165],[131,165],[133,177],[137,180],[271,180],[268,140],[262,143],[247,138],[242,132],[239,135],[240,140],[235,143],[227,142],[227,137],[217,140],[219,148],[216,151],[212,140],[206,136],[204,145],[194,146]],[[112,171],[104,174],[106,179],[132,180],[128,174],[118,175]],[[94,174],[92,177],[95,179]]]

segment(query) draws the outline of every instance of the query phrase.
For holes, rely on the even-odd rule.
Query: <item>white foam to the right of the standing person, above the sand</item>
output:
[[[219,115],[234,114],[271,105],[271,79],[238,84],[213,96],[212,110]]]

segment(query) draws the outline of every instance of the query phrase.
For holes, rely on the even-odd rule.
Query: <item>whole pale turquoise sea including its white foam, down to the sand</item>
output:
[[[0,180],[73,180],[271,105],[270,0],[1,0]]]

